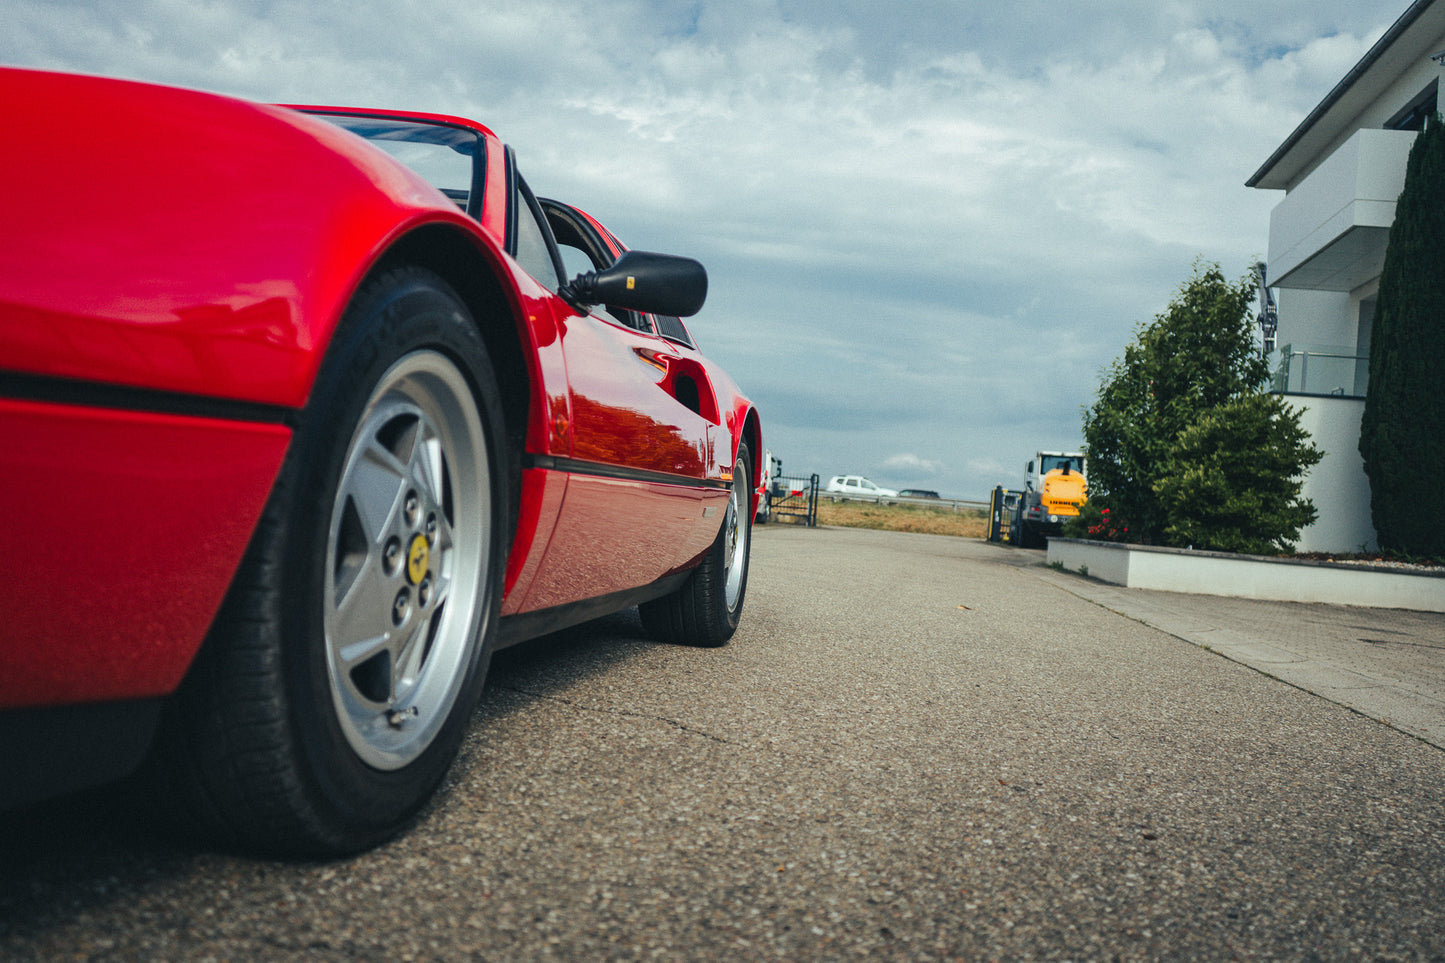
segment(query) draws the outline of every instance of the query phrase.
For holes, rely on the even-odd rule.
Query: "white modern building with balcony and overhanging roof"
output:
[[[1370,327],[1394,202],[1416,133],[1439,110],[1445,0],[1416,0],[1246,184],[1285,191],[1270,214],[1277,296],[1274,390],[1325,458],[1305,496],[1299,551],[1376,547],[1360,458]]]

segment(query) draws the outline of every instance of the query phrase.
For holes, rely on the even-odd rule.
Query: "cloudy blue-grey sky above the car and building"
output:
[[[3,0],[0,62],[464,114],[708,266],[691,327],[785,471],[984,497],[1406,0]]]

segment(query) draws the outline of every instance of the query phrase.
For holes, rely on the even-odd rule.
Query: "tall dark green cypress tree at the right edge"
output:
[[[1416,137],[1394,208],[1360,422],[1380,548],[1445,555],[1445,127]]]

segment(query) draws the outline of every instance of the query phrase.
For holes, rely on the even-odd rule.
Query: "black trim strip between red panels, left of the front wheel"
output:
[[[286,425],[290,428],[296,427],[301,416],[301,412],[295,408],[283,405],[238,402],[224,398],[207,398],[204,395],[162,392],[149,388],[79,382],[46,374],[20,374],[19,372],[0,372],[0,398],[48,402],[52,405],[139,411],[156,415],[246,421],[263,425]]]

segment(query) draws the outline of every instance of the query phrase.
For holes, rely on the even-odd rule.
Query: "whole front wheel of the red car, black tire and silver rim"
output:
[[[432,797],[481,693],[509,526],[501,396],[460,298],[357,295],[158,762],[194,829],[355,853]]]

